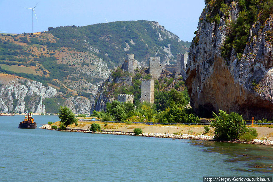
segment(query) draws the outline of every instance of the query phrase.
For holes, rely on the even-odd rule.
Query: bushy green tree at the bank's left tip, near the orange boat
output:
[[[59,112],[60,113],[58,113],[59,115],[58,117],[61,120],[61,123],[63,123],[65,127],[67,127],[67,125],[71,125],[72,123],[77,122],[77,118],[75,118],[75,115],[70,110],[70,108],[66,106],[60,106]]]

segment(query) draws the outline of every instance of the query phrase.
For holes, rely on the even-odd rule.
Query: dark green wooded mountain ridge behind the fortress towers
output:
[[[179,42],[176,35],[159,26],[157,22],[145,20],[82,27],[49,27],[49,33],[59,38],[56,43],[50,44],[53,49],[64,46],[88,51],[88,47],[91,46],[99,50],[98,57],[110,67],[111,64],[115,66],[121,64],[126,53],[134,53],[138,61],[147,61],[150,56],[160,56],[161,60],[164,60],[167,53],[163,49],[168,47],[168,44],[173,55],[171,60],[176,60],[176,55],[186,53],[190,46],[189,42]],[[162,40],[159,40],[159,33]],[[126,43],[130,46],[128,51],[124,50]]]

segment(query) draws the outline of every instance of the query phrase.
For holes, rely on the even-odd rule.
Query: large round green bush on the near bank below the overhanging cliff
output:
[[[222,110],[219,110],[218,114],[213,112],[215,120],[211,122],[211,126],[215,129],[214,138],[220,140],[238,139],[245,129],[243,117],[236,112],[227,114]]]

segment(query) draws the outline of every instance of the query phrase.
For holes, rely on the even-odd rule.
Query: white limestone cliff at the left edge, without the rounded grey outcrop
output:
[[[52,87],[45,87],[43,84],[32,80],[23,80],[14,77],[1,79],[0,87],[0,111],[1,112],[29,112],[45,113],[43,98],[53,97],[57,91]],[[9,80],[9,81],[8,81]],[[28,108],[26,106],[26,102]]]

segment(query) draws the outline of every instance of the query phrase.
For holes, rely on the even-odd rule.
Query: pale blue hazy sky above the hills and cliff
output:
[[[0,0],[2,33],[31,33],[48,27],[86,26],[121,20],[157,21],[181,40],[192,41],[204,0]],[[105,17],[105,18],[104,18]]]

